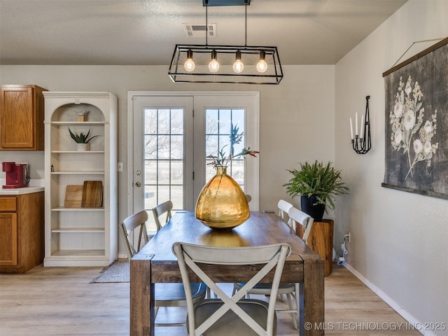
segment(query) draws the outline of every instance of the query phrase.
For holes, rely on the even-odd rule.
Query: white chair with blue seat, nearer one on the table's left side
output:
[[[145,210],[139,211],[126,218],[120,223],[120,236],[126,246],[127,258],[131,258],[140,251],[146,243],[148,243],[148,232],[146,231],[146,221],[148,221],[148,213]],[[139,242],[135,248],[132,239],[132,232],[139,234]],[[143,243],[143,244],[142,244]],[[205,297],[206,286],[204,283],[191,283],[190,293],[193,293],[195,301],[202,300]],[[182,283],[156,283],[155,284],[155,315],[157,316],[159,307],[185,307],[186,294],[183,290]],[[158,326],[185,325],[181,323],[155,323]]]

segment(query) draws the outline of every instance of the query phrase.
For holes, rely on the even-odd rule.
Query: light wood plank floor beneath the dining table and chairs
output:
[[[26,274],[0,274],[0,335],[129,335],[129,283],[90,283],[100,270],[38,266]],[[179,312],[161,309],[160,322],[167,314]],[[278,335],[297,335],[289,314],[278,317]],[[325,335],[420,335],[337,265],[325,277],[325,330]],[[156,335],[181,336],[186,330],[159,327]]]

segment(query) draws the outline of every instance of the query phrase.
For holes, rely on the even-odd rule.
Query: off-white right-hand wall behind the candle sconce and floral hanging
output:
[[[342,234],[351,232],[349,265],[402,314],[421,323],[448,323],[448,201],[381,188],[385,157],[382,73],[414,41],[447,37],[447,18],[446,0],[409,0],[335,69],[336,166],[351,188],[351,194],[337,202],[335,234],[340,244]],[[416,43],[400,62],[436,42]],[[349,143],[349,117],[364,113],[367,95],[372,150],[358,155]]]

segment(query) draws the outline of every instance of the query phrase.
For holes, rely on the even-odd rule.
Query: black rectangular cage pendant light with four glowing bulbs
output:
[[[283,78],[276,47],[247,45],[247,6],[250,0],[203,0],[206,10],[205,45],[174,48],[168,75],[180,83],[279,84]],[[245,7],[245,44],[208,44],[208,7]]]

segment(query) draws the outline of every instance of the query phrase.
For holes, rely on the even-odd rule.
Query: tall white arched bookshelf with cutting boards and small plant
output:
[[[109,92],[48,91],[44,97],[43,265],[109,265],[118,252],[118,99]],[[79,111],[88,111],[84,121],[80,121]],[[69,127],[72,132],[85,134],[90,130],[99,137],[90,141],[89,151],[78,151]],[[85,181],[102,181],[102,206],[78,204]],[[74,189],[69,191],[67,186]]]

